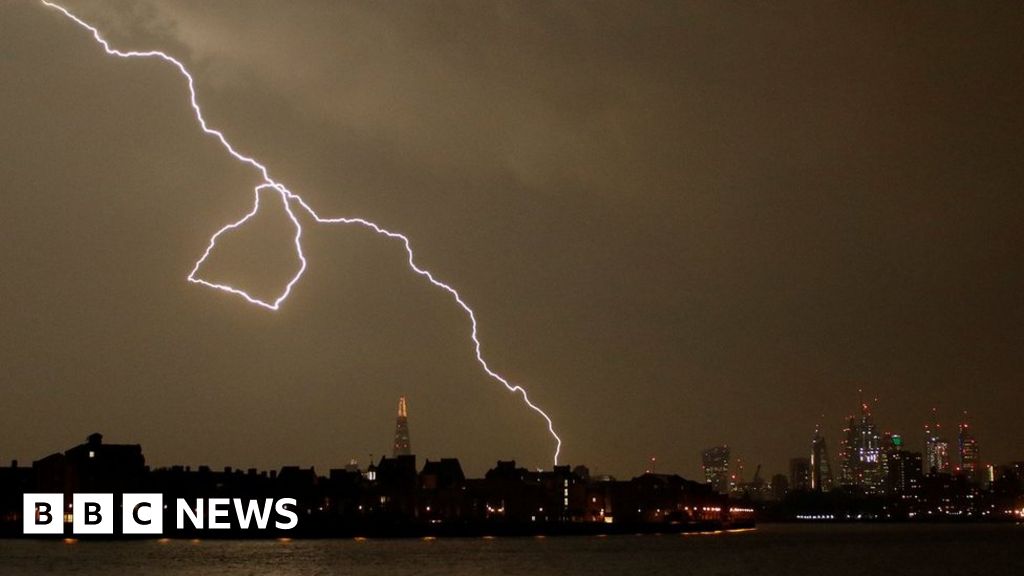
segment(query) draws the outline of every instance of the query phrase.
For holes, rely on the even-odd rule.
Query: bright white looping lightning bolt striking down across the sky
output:
[[[193,266],[191,272],[188,273],[187,277],[188,282],[191,282],[193,284],[200,284],[209,288],[214,288],[216,290],[227,292],[236,296],[240,296],[251,304],[255,304],[270,311],[278,311],[281,307],[281,305],[285,302],[285,300],[288,299],[288,296],[292,293],[292,288],[299,282],[299,280],[302,278],[302,275],[306,271],[306,265],[307,265],[306,257],[302,251],[302,223],[299,221],[299,218],[295,214],[296,211],[299,210],[308,214],[317,223],[354,224],[370,229],[374,233],[380,236],[387,237],[391,240],[397,240],[401,244],[402,248],[406,250],[409,268],[416,274],[426,278],[427,281],[433,284],[435,287],[443,290],[444,292],[447,292],[449,295],[452,296],[455,302],[459,305],[459,307],[461,307],[462,311],[466,314],[466,317],[469,319],[469,323],[472,328],[470,332],[470,338],[473,341],[473,352],[476,355],[476,362],[480,365],[480,367],[487,374],[487,376],[489,376],[492,379],[504,385],[505,388],[508,389],[508,392],[512,394],[518,394],[519,396],[521,396],[523,403],[525,403],[530,410],[540,414],[541,417],[544,418],[545,422],[547,422],[548,433],[550,433],[551,437],[555,440],[554,462],[555,464],[558,464],[558,455],[562,449],[562,439],[558,437],[557,433],[555,433],[555,426],[551,420],[551,417],[548,416],[548,414],[544,410],[542,410],[539,406],[530,402],[529,396],[526,394],[526,388],[518,384],[512,384],[504,376],[490,369],[490,366],[487,364],[487,361],[484,360],[483,353],[481,352],[480,339],[477,331],[476,314],[473,312],[473,308],[469,307],[469,304],[467,304],[466,301],[463,300],[462,295],[459,294],[459,292],[455,288],[441,282],[430,271],[420,268],[416,263],[416,254],[413,252],[413,246],[410,243],[408,237],[406,237],[403,234],[389,231],[365,218],[356,218],[356,217],[327,218],[321,216],[318,213],[316,213],[315,210],[313,210],[309,206],[309,204],[306,203],[305,200],[302,199],[302,197],[290,191],[284,183],[279,182],[273,178],[271,178],[270,172],[266,166],[259,163],[256,159],[250,156],[246,156],[241,152],[239,152],[238,150],[236,150],[236,148],[231,146],[231,142],[227,140],[227,137],[224,136],[223,132],[210,127],[210,125],[206,121],[206,117],[203,116],[203,109],[200,108],[199,106],[199,101],[196,95],[196,82],[193,78],[193,75],[188,72],[188,69],[186,69],[185,66],[181,64],[180,60],[159,50],[123,51],[113,48],[111,47],[111,44],[99,33],[99,30],[97,30],[94,26],[86,23],[82,18],[73,14],[70,10],[68,10],[67,8],[65,8],[59,4],[55,4],[48,0],[40,0],[40,2],[49,8],[57,10],[58,12],[67,16],[69,19],[77,24],[79,27],[85,29],[90,34],[92,34],[92,38],[96,41],[96,43],[102,46],[103,51],[105,51],[108,54],[112,56],[118,56],[121,58],[158,58],[164,60],[165,63],[177,69],[178,73],[180,73],[181,76],[184,77],[185,81],[188,84],[188,101],[189,105],[191,105],[193,112],[196,115],[196,120],[199,122],[200,128],[203,129],[203,132],[216,138],[217,141],[219,141],[220,145],[224,148],[224,150],[226,150],[227,153],[230,154],[236,160],[238,160],[243,164],[248,164],[249,166],[254,168],[257,172],[259,172],[260,176],[263,178],[262,183],[257,186],[254,190],[255,200],[253,202],[252,210],[250,210],[245,216],[243,216],[239,220],[225,224],[223,228],[214,233],[212,237],[210,237],[210,242],[207,245],[206,251],[196,261],[196,264]],[[219,284],[215,282],[210,282],[202,279],[199,276],[199,270],[200,268],[202,268],[203,262],[206,261],[206,259],[210,256],[210,253],[217,246],[217,239],[228,231],[237,230],[239,228],[244,227],[246,222],[248,222],[253,216],[255,216],[260,208],[260,195],[261,193],[264,192],[275,193],[281,198],[282,204],[284,205],[285,208],[285,212],[288,214],[289,219],[295,227],[295,237],[294,237],[295,254],[298,256],[299,259],[299,269],[295,272],[295,275],[285,286],[281,294],[279,294],[278,297],[274,298],[273,300],[263,300],[249,294],[248,292],[240,288],[236,288],[228,284]]]

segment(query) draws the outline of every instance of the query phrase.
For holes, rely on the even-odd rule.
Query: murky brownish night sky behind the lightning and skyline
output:
[[[328,216],[407,234],[561,461],[767,474],[872,402],[922,450],[968,410],[1024,459],[1024,11],[1014,3],[81,2],[197,77],[210,123]],[[414,451],[548,466],[451,297],[304,220],[267,312],[185,277],[259,175],[175,70],[0,5],[0,460],[101,431],[152,465]],[[294,274],[274,197],[204,278]],[[952,430],[949,430],[950,436]],[[952,438],[950,438],[952,440]]]

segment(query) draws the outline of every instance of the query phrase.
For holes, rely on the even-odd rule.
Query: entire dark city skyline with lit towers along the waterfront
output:
[[[399,399],[398,407],[396,433],[401,439],[402,429],[408,430],[403,398]],[[694,520],[698,525],[701,521],[728,522],[726,516],[719,516],[723,510],[741,511],[744,516],[757,512],[769,521],[836,522],[963,522],[965,519],[1016,522],[1024,515],[1024,508],[1020,508],[1024,461],[972,469],[968,464],[977,464],[977,447],[972,449],[971,443],[965,441],[962,445],[966,448],[961,451],[963,465],[949,471],[934,467],[929,470],[922,453],[906,450],[901,436],[888,433],[879,436],[873,431],[870,411],[864,403],[860,417],[849,418],[847,422],[841,480],[835,484],[828,482],[827,455],[821,469],[820,464],[814,463],[825,452],[819,428],[814,431],[811,457],[792,459],[788,477],[775,474],[767,480],[768,475],[762,475],[759,464],[753,478],[745,480],[741,460],[731,460],[729,448],[718,446],[701,454],[703,483],[673,471],[656,471],[653,458],[650,469],[629,479],[592,475],[586,465],[530,470],[517,466],[514,460],[498,460],[485,475],[472,480],[464,474],[459,458],[453,457],[433,460],[427,457],[422,471],[417,471],[418,457],[409,453],[408,445],[397,446],[395,454],[381,456],[379,461],[371,459],[366,466],[351,461],[343,468],[319,472],[315,466],[294,464],[270,470],[183,464],[152,466],[141,445],[105,443],[102,435],[94,433],[84,444],[34,459],[31,466],[18,462],[0,466],[0,534],[10,535],[18,523],[16,509],[22,492],[62,491],[67,495],[83,490],[137,492],[158,487],[164,487],[163,491],[181,490],[183,486],[190,487],[185,492],[193,496],[252,495],[253,491],[279,496],[301,494],[301,507],[306,511],[300,516],[314,519],[317,515],[310,516],[312,509],[323,512],[318,528],[305,532],[306,535],[358,535],[362,530],[398,535],[400,531],[390,532],[397,526],[388,528],[388,523],[396,518],[392,516],[394,512],[411,521],[418,519],[416,522],[423,523],[421,528],[433,524],[431,518],[441,523],[456,522],[446,531],[449,534],[462,530],[478,533],[485,528],[474,523],[504,523],[512,520],[512,516],[506,515],[511,509],[515,510],[513,524],[518,526],[509,525],[511,533],[544,530],[522,524],[536,522],[544,526],[551,522],[587,523],[590,528],[577,525],[586,533],[592,529],[600,532],[599,525],[613,522],[618,523],[616,533],[631,533],[634,527],[640,528],[638,522],[647,525],[645,531],[670,524],[680,530],[693,530],[700,529],[693,524]],[[967,438],[964,429],[961,428],[962,435]],[[404,439],[408,440],[408,435]],[[926,440],[930,439],[929,431]],[[464,492],[469,487],[473,491]],[[668,492],[663,490],[670,487]],[[507,498],[516,503],[511,504],[512,500]],[[628,512],[623,509],[624,501],[635,502],[625,505]],[[699,508],[703,511],[695,516],[697,508],[690,507],[694,504],[705,506]],[[336,521],[342,521],[342,525]],[[470,525],[462,524],[463,521]],[[65,519],[66,524],[70,522]],[[573,533],[568,527],[564,533]]]

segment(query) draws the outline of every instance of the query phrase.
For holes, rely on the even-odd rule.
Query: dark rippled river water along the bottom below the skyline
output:
[[[772,526],[714,535],[438,540],[0,540],[0,574],[1024,574],[1024,527]]]

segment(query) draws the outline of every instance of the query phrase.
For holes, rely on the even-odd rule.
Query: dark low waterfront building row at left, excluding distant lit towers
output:
[[[289,537],[479,536],[530,534],[634,534],[749,527],[754,510],[734,507],[710,486],[676,475],[645,474],[626,482],[590,479],[568,465],[527,469],[499,461],[483,478],[466,478],[456,458],[428,459],[418,469],[412,454],[382,457],[371,477],[359,469],[286,465],[258,471],[209,466],[151,469],[139,445],[88,442],[37,460],[32,467],[0,468],[0,537],[19,534],[22,494],[32,492],[159,493],[165,504],[183,499],[193,513],[207,498],[294,498],[298,528]],[[68,500],[70,501],[70,500]],[[201,515],[202,516],[202,515]],[[120,516],[118,516],[120,518]],[[174,526],[175,506],[164,509],[165,529],[176,537],[198,527]],[[70,510],[65,524],[72,522]],[[120,522],[116,519],[116,522]],[[229,521],[231,522],[231,521]],[[120,534],[116,528],[114,534]],[[204,537],[278,536],[246,531],[237,522]]]

